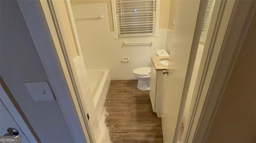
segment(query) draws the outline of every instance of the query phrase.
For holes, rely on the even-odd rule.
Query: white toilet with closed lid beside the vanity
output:
[[[156,55],[160,57],[169,56],[169,54],[164,50],[157,50]],[[140,90],[150,89],[150,67],[139,67],[134,69],[133,74],[138,78],[137,88]]]

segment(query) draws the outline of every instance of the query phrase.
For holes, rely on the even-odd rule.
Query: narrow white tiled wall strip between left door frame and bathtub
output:
[[[89,123],[93,129],[94,137],[96,139],[96,142],[98,142],[98,139],[100,137],[100,127],[99,122],[97,118],[97,113],[95,111],[95,106],[93,103],[93,96],[90,90],[90,84],[88,81],[88,76],[86,74],[86,68],[84,65],[84,60],[82,56],[76,57],[74,60],[74,65],[76,69],[76,74],[78,76],[79,80],[79,87],[82,91],[82,97],[81,99],[84,100],[86,109],[88,110],[88,113],[90,115]]]

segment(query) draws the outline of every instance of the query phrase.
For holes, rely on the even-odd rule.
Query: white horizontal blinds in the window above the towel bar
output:
[[[116,0],[118,37],[155,35],[156,0]]]

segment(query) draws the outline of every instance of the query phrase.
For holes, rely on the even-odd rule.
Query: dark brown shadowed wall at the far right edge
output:
[[[206,142],[256,142],[256,14]]]

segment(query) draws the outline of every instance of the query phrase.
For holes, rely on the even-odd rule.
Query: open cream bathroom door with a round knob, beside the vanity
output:
[[[200,0],[171,0],[170,4],[169,22],[175,22],[175,24],[171,23],[172,27],[166,39],[168,40],[166,47],[170,47],[169,74],[166,78],[162,100],[162,131],[166,143],[177,142],[178,139],[181,125],[178,115],[199,6]],[[200,35],[197,36],[199,41]],[[186,98],[183,102],[186,102]]]

